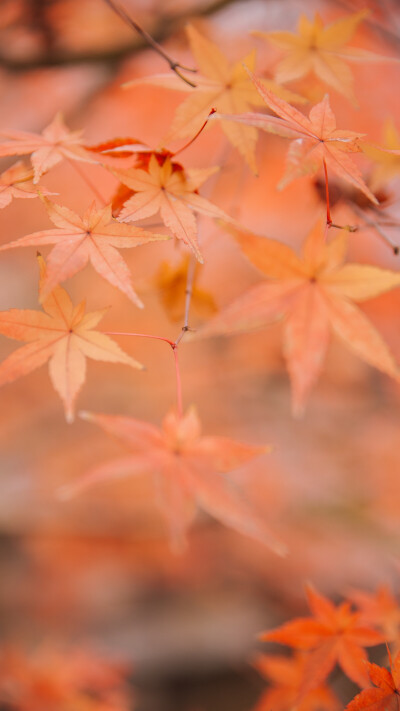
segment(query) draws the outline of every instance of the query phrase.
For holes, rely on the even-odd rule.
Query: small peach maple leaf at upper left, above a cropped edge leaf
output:
[[[43,130],[42,134],[28,131],[0,131],[0,156],[20,156],[31,154],[34,169],[34,183],[38,183],[43,173],[47,173],[57,163],[65,158],[98,163],[90,153],[85,151],[82,141],[82,131],[70,131],[58,113],[53,121]]]

